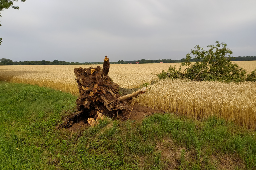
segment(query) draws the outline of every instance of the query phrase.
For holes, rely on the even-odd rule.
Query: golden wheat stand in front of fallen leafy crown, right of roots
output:
[[[197,119],[217,116],[255,129],[256,83],[159,80],[132,101]]]

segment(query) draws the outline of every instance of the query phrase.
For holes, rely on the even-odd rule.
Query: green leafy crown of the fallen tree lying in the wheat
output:
[[[169,66],[168,71],[162,71],[157,75],[159,79],[165,78],[187,78],[191,81],[223,81],[223,82],[241,82],[256,81],[256,69],[246,76],[246,70],[239,68],[238,64],[232,63],[230,55],[233,53],[227,48],[226,43],[216,42],[217,45],[208,45],[209,50],[199,45],[196,50],[191,49],[191,54],[196,55],[198,61],[194,64],[190,62],[191,54],[186,55],[185,62],[181,63],[179,69],[175,66]],[[182,71],[182,67],[186,68]]]

